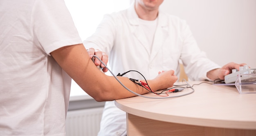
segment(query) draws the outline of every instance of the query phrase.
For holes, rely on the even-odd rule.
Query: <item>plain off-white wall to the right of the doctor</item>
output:
[[[256,68],[256,0],[164,0],[160,9],[186,20],[207,56]]]

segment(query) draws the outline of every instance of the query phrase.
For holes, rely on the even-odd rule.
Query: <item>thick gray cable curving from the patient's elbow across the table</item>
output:
[[[144,97],[144,98],[151,98],[151,99],[166,99],[166,98],[175,98],[175,97],[186,96],[186,95],[188,95],[188,94],[192,94],[192,93],[195,91],[195,89],[194,89],[191,85],[189,85],[189,83],[188,83],[185,79],[183,79],[183,80],[186,82],[186,85],[187,85],[186,87],[184,87],[184,89],[186,89],[188,86],[189,86],[189,88],[192,89],[192,91],[189,92],[189,93],[187,93],[187,94],[182,94],[182,95],[178,95],[178,96],[166,96],[166,97],[148,97],[148,96],[144,96],[144,95],[141,95],[141,94],[137,94],[136,92],[134,92],[134,91],[130,90],[129,88],[127,88],[127,87],[117,78],[117,76],[115,76],[115,74],[107,67],[107,65],[106,65],[101,59],[99,59],[98,56],[93,55],[93,57],[96,57],[96,58],[108,69],[108,71],[110,71],[110,73],[116,78],[116,80],[117,80],[125,89],[127,89],[128,91],[130,91],[131,93],[133,93],[133,94],[135,94],[135,95],[137,95],[137,96],[141,96],[141,97]]]

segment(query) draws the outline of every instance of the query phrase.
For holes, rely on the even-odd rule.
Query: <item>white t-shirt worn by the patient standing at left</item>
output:
[[[0,135],[65,136],[71,78],[50,53],[82,43],[65,2],[0,3]]]

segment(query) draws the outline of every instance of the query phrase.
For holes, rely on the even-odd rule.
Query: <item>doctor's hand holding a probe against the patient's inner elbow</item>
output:
[[[105,52],[100,51],[99,49],[94,49],[94,48],[89,48],[87,51],[88,51],[88,54],[89,54],[90,58],[92,58],[93,55],[96,55],[97,57],[99,57],[107,65],[107,63],[108,63],[108,55]],[[108,69],[103,64],[101,64],[101,61],[99,61],[97,58],[94,58],[94,64],[96,66],[100,65],[101,67],[103,67],[103,69],[102,69],[103,72],[107,72],[108,71]]]

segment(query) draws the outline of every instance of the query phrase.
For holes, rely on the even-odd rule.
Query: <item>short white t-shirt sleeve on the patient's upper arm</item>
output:
[[[61,47],[82,43],[63,0],[36,0],[31,24],[40,48],[48,55]]]

